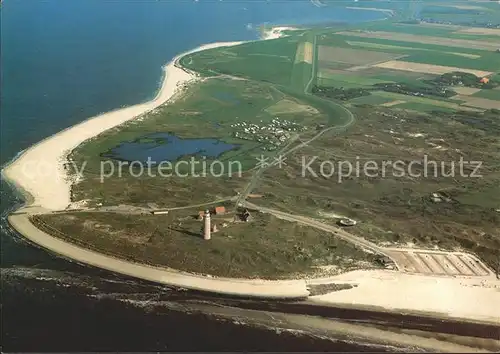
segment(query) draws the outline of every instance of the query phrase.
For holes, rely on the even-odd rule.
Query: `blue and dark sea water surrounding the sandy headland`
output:
[[[200,44],[257,39],[263,24],[384,18],[305,0],[4,0],[0,6],[1,165],[88,117],[151,99],[162,66]],[[217,306],[213,295],[52,255],[9,228],[7,214],[23,201],[4,181],[0,193],[2,352],[374,348],[218,317],[190,305]]]

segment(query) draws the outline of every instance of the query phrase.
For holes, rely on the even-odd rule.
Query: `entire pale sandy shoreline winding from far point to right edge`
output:
[[[295,28],[273,27],[269,31],[263,33],[263,40],[279,38],[283,36],[283,31],[293,29]],[[419,299],[416,298],[414,299],[415,303],[408,301],[409,298],[412,298],[413,294],[412,291],[407,289],[413,289],[413,286],[418,289],[424,280],[428,282],[429,277],[390,271],[354,271],[321,280],[295,279],[273,281],[201,276],[183,272],[181,270],[153,267],[107,256],[103,253],[79,247],[55,236],[51,236],[37,229],[31,223],[29,220],[30,214],[65,209],[72,204],[70,193],[73,181],[65,178],[67,176],[63,165],[67,161],[68,154],[70,154],[74,148],[84,141],[92,139],[108,129],[117,127],[120,124],[131,121],[132,119],[139,118],[143,114],[156,109],[160,105],[175,99],[176,94],[180,92],[182,86],[199,80],[196,73],[182,68],[179,60],[183,56],[205,49],[239,45],[242,43],[246,42],[216,42],[202,45],[190,51],[178,54],[163,67],[163,81],[152,100],[145,103],[118,108],[116,110],[88,118],[81,123],[63,129],[57,134],[41,140],[16,155],[16,157],[2,169],[3,179],[12,185],[18,193],[22,194],[25,199],[24,205],[8,216],[8,222],[11,227],[34,244],[70,260],[179,288],[242,297],[270,299],[309,298],[310,301],[319,303],[344,304],[352,308],[363,305],[380,306],[387,311],[398,312],[430,309],[429,311],[436,312],[436,316],[439,313],[446,318],[467,317],[479,321],[491,321],[491,318],[496,318],[495,316],[492,317],[492,312],[495,311],[491,311],[491,309],[487,309],[487,311],[485,311],[480,304],[481,302],[484,304],[485,302],[490,301],[490,299],[491,301],[494,300],[491,298],[491,291],[494,292],[496,290],[497,293],[500,294],[500,291],[498,290],[500,289],[500,282],[494,282],[490,286],[490,289],[483,289],[489,291],[478,291],[482,289],[478,288],[477,284],[483,281],[489,282],[490,280],[487,278],[444,279],[444,283],[451,284],[450,287],[445,288],[436,288],[432,287],[432,284],[425,284],[425,291],[422,291],[420,294],[420,297],[423,299],[432,299],[432,296],[435,295],[434,292],[437,292],[438,290],[450,293],[457,291],[457,289],[460,291],[461,288],[476,290],[468,293],[469,296],[465,296],[465,299],[462,299],[464,302],[462,307],[458,310],[453,308],[455,311],[452,311],[450,310],[449,305],[447,307],[445,302],[441,303],[441,305],[444,305],[444,308],[440,307],[439,309],[436,309],[435,306],[432,306],[433,304],[422,302],[425,300],[418,301]],[[57,169],[53,171],[56,176],[50,175],[42,178],[41,180],[34,179],[33,177],[31,179],[26,179],[27,171],[26,169],[23,169],[23,167],[25,168],[26,163],[29,163],[30,161],[36,161],[38,163],[40,161],[44,161],[52,164],[51,166],[56,166]],[[374,277],[375,279],[373,279]],[[436,277],[431,277],[431,280],[431,282],[435,282],[436,284],[440,282],[439,278]],[[310,296],[308,285],[319,284],[321,282],[325,284],[350,282],[353,284],[359,284],[359,286],[349,291],[345,290],[326,295]],[[465,285],[462,285],[462,283]],[[496,283],[499,285],[495,285]],[[387,284],[389,284],[389,286],[387,286]],[[410,288],[408,288],[408,286],[410,286]],[[401,289],[402,291],[397,291],[401,287],[404,287]],[[373,293],[373,289],[376,289],[377,291]],[[395,293],[401,297],[399,305],[404,306],[398,307],[397,304],[390,301],[391,294]],[[467,301],[473,298],[473,296],[477,297],[476,303],[479,304],[476,304],[476,307],[467,307]],[[401,299],[403,300],[402,302]],[[474,312],[473,310],[476,311]],[[493,315],[495,315],[495,313],[493,313]],[[500,313],[498,318],[500,318]]]

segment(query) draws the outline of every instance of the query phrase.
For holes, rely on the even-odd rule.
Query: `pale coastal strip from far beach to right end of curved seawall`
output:
[[[280,38],[283,35],[283,30],[290,29],[293,28],[273,27],[263,34],[261,40]],[[242,43],[246,42],[209,43],[178,54],[163,67],[163,82],[152,100],[88,118],[20,152],[3,166],[1,171],[2,179],[13,186],[15,191],[20,193],[25,200],[23,206],[8,216],[10,226],[27,240],[59,256],[157,283],[236,296],[280,299],[306,298],[309,292],[304,280],[284,280],[278,281],[279,284],[277,284],[277,281],[222,279],[134,264],[62,241],[37,229],[29,220],[29,215],[63,210],[71,206],[71,185],[74,181],[67,178],[64,163],[74,148],[108,129],[139,118],[160,105],[172,101],[184,85],[199,80],[196,73],[179,65],[180,58],[202,50],[235,46]],[[38,174],[35,178],[29,173],[30,167],[33,166],[49,166],[50,173],[43,176]]]

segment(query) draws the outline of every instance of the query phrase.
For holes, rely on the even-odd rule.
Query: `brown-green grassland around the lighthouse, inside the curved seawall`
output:
[[[375,267],[373,255],[329,233],[267,214],[219,226],[210,242],[201,237],[202,222],[185,214],[74,213],[45,215],[35,222],[49,223],[67,240],[119,258],[214,276],[279,279],[321,274],[322,266],[337,272]],[[222,219],[213,222],[220,225]]]

